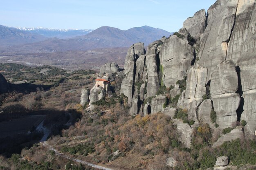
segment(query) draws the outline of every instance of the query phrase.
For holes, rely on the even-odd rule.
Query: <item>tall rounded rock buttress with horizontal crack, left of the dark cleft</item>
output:
[[[237,121],[236,110],[240,104],[238,90],[238,75],[232,60],[221,62],[216,66],[211,75],[211,99],[216,111],[220,128],[232,126]]]

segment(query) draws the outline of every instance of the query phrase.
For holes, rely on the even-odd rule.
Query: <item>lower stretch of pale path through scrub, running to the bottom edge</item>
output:
[[[47,146],[49,148],[49,150],[53,150],[55,152],[55,155],[58,155],[58,156],[61,156],[61,157],[64,157],[66,159],[70,159],[72,161],[76,161],[78,163],[82,163],[83,165],[87,165],[87,166],[90,166],[90,167],[93,167],[93,168],[97,168],[97,169],[100,169],[100,170],[113,170],[113,169],[110,169],[110,168],[106,168],[106,167],[103,167],[103,166],[99,166],[99,165],[95,165],[93,163],[89,163],[89,162],[86,162],[86,161],[82,161],[80,159],[75,159],[75,158],[72,158],[68,155],[64,155],[63,153],[59,152],[58,150],[54,149],[51,145],[47,144],[45,141],[42,142],[43,146]]]

